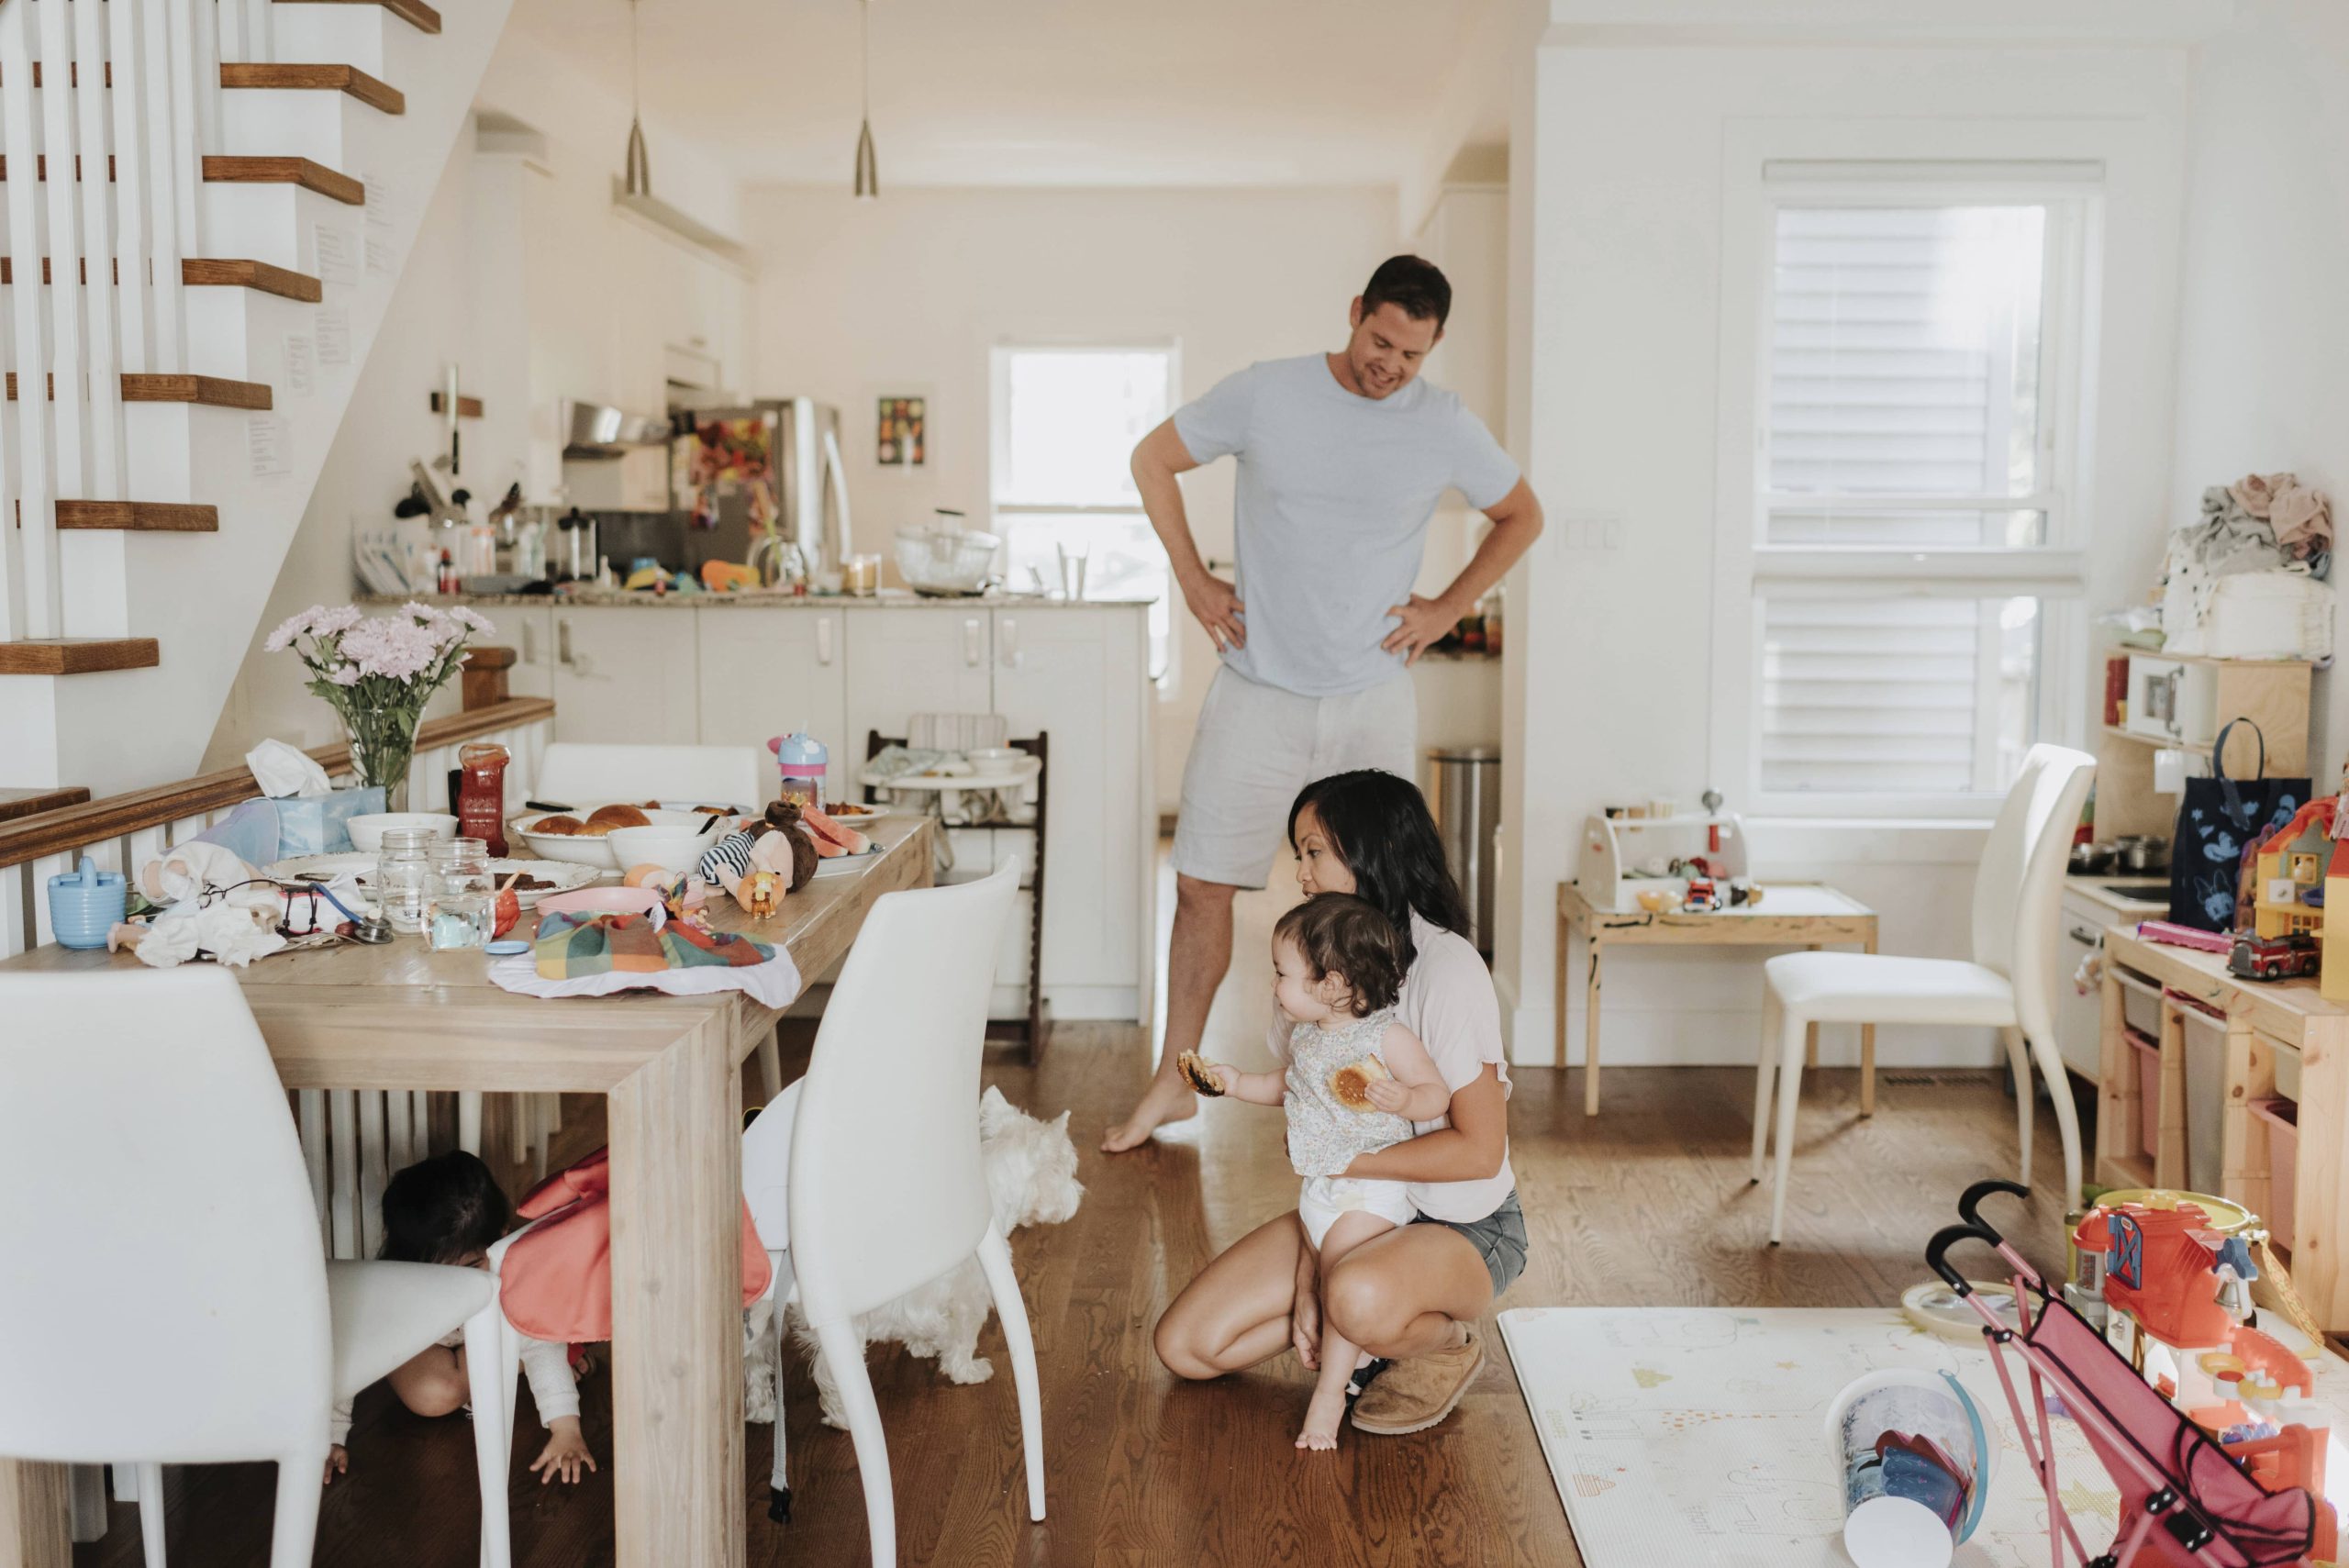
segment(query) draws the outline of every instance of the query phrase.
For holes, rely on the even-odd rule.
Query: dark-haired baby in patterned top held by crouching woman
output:
[[[1414,1136],[1412,1122],[1445,1113],[1428,1047],[1395,1021],[1402,944],[1379,908],[1344,892],[1306,899],[1273,927],[1273,1002],[1290,1019],[1285,1073],[1186,1063],[1193,1087],[1257,1106],[1283,1106],[1290,1164],[1304,1176],[1297,1218],[1315,1253],[1322,1300],[1330,1270],[1362,1242],[1416,1218],[1405,1183],[1346,1176],[1358,1155]],[[1337,1448],[1346,1383],[1369,1357],[1322,1312],[1320,1378],[1299,1448]]]

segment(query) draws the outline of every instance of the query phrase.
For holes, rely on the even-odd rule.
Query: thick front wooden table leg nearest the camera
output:
[[[742,1566],[742,1070],[714,1007],[611,1091],[618,1568]]]

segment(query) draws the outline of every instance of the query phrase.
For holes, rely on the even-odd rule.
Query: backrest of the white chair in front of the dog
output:
[[[987,1235],[980,1056],[1017,887],[1012,861],[883,894],[864,918],[792,1122],[789,1242],[813,1322],[893,1300]]]

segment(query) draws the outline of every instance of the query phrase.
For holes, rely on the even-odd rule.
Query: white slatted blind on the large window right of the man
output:
[[[2067,538],[2048,392],[2077,202],[1837,190],[1769,214],[1752,784],[2004,791],[2041,723],[2046,606],[1978,577]]]

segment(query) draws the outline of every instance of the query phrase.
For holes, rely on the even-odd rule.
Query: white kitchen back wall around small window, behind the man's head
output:
[[[1257,359],[1334,350],[1346,305],[1395,251],[1393,190],[839,190],[742,202],[759,258],[763,394],[843,411],[857,545],[893,554],[933,507],[987,514],[989,347],[1177,340],[1182,397]],[[1442,380],[1438,350],[1431,376]],[[930,399],[928,465],[874,462],[874,399]],[[1231,465],[1184,481],[1200,552],[1231,559]],[[1214,650],[1186,615],[1182,683],[1158,716],[1172,810]]]

